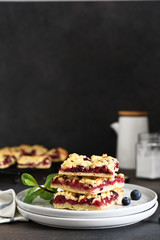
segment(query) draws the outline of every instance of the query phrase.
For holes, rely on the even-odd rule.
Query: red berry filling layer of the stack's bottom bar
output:
[[[106,197],[106,198],[101,198],[101,200],[96,200],[93,202],[94,198],[82,198],[80,200],[80,202],[78,202],[78,200],[72,200],[72,199],[66,199],[65,196],[63,195],[58,195],[55,197],[55,199],[53,200],[54,204],[65,204],[65,203],[69,203],[71,205],[83,205],[83,204],[88,204],[88,205],[94,205],[97,207],[100,207],[102,205],[107,205],[110,204],[112,201],[115,201],[118,198],[118,193],[117,192],[113,192],[113,195],[110,196],[110,198]]]

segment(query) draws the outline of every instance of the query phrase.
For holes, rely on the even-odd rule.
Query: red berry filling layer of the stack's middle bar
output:
[[[78,181],[78,180],[75,180],[75,181],[69,181],[69,180],[67,180],[67,179],[64,179],[64,181],[63,182],[61,182],[61,181],[59,181],[59,179],[58,178],[56,178],[56,179],[54,179],[53,181],[52,181],[52,184],[54,185],[54,184],[59,184],[59,185],[66,185],[66,186],[70,186],[70,187],[73,187],[73,188],[77,188],[77,189],[84,189],[84,190],[89,190],[89,189],[92,189],[92,190],[95,190],[95,189],[97,189],[97,188],[100,188],[100,191],[102,191],[103,190],[103,187],[106,187],[106,186],[108,186],[108,185],[113,185],[113,184],[115,184],[116,182],[117,183],[124,183],[124,181],[125,181],[125,179],[124,178],[116,178],[116,179],[114,179],[114,180],[104,180],[103,182],[102,182],[102,184],[100,184],[100,185],[98,185],[98,186],[96,186],[96,187],[93,187],[91,184],[84,184],[84,183],[82,183],[82,182],[80,182],[80,181]]]

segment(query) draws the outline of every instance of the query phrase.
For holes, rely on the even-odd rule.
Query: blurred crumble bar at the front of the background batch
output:
[[[48,155],[22,156],[17,160],[18,168],[50,168],[52,160]]]

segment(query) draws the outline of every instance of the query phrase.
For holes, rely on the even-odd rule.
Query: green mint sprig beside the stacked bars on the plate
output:
[[[44,183],[44,187],[40,186],[35,178],[28,173],[23,173],[21,176],[22,182],[24,185],[32,186],[29,188],[25,194],[24,202],[28,204],[32,204],[33,201],[40,197],[44,200],[53,199],[54,194],[57,192],[56,188],[51,188],[50,185],[52,183],[52,179],[57,175],[57,173],[53,173],[47,176],[46,182]]]

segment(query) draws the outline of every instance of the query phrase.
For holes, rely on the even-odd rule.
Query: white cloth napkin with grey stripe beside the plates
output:
[[[16,208],[16,194],[13,189],[0,191],[0,223],[28,221]]]

